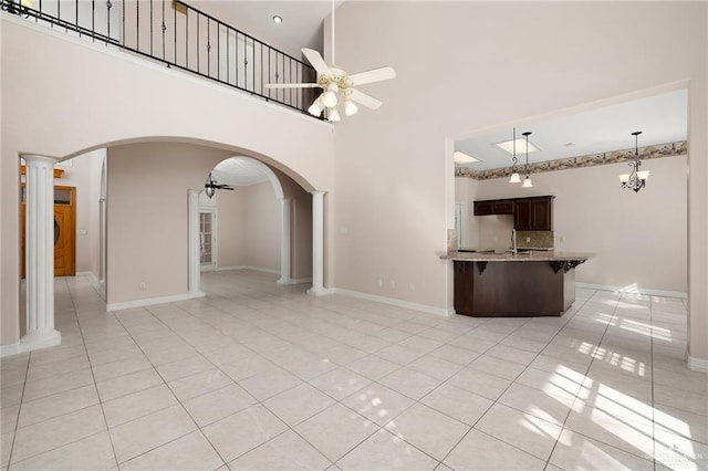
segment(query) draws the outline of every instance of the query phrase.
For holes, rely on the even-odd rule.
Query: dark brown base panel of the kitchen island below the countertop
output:
[[[545,261],[456,261],[455,311],[489,317],[558,316],[574,299],[574,293],[568,297],[574,276],[568,286],[565,276],[563,269],[555,271]]]

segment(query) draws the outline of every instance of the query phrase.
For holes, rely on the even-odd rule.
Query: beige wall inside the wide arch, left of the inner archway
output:
[[[108,148],[108,304],[187,292],[187,190],[225,156],[181,143]]]

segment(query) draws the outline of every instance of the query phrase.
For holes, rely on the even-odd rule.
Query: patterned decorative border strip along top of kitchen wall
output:
[[[656,146],[639,147],[639,159],[647,160],[662,157],[678,157],[687,154],[688,142],[659,144]],[[591,154],[581,157],[569,157],[556,160],[540,161],[530,164],[529,170],[532,174],[541,171],[566,170],[570,168],[594,167],[596,165],[617,164],[634,160],[634,149],[615,150],[612,153]],[[523,172],[523,165],[517,166],[519,172]],[[476,180],[488,180],[491,178],[503,178],[511,175],[511,167],[492,168],[489,170],[475,170],[468,167],[456,168],[456,177],[473,178]]]

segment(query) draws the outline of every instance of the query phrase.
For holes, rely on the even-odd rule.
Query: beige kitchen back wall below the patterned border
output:
[[[556,250],[595,253],[576,269],[577,282],[686,293],[687,158],[645,160],[643,167],[652,175],[638,193],[620,188],[617,175],[625,167],[613,164],[535,174],[530,189],[510,185],[507,178],[456,178],[456,186],[477,187],[475,199],[555,196]],[[462,195],[460,190],[458,196]],[[511,216],[471,219],[477,226],[473,247],[510,247]]]

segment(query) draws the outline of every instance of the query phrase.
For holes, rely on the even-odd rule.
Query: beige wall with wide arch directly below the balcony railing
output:
[[[126,142],[196,142],[259,158],[309,191],[332,191],[330,124],[22,19],[2,15],[1,21],[0,345],[20,338],[21,153],[67,158]],[[148,275],[153,280],[155,273]],[[127,300],[175,292],[150,280],[154,292],[138,293],[125,281],[114,294]],[[324,281],[333,283],[331,264]]]

